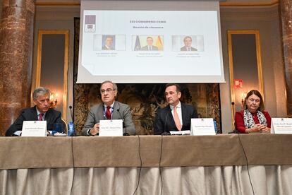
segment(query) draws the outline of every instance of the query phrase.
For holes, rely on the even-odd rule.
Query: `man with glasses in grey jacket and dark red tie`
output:
[[[93,106],[88,113],[87,120],[82,129],[83,136],[96,136],[99,134],[99,120],[123,119],[123,131],[135,135],[135,125],[130,113],[130,107],[115,101],[118,94],[116,83],[104,81],[100,85],[102,103]]]

